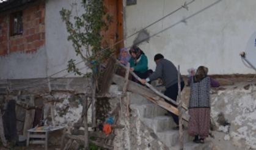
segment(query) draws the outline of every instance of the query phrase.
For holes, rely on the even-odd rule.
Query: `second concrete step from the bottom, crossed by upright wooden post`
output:
[[[178,130],[164,130],[163,132],[156,132],[159,140],[166,144],[166,146],[175,146],[179,142]],[[188,130],[183,130],[183,142],[192,141],[194,137],[188,134]]]

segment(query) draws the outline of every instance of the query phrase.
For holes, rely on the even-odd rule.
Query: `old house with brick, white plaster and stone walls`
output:
[[[81,118],[82,99],[77,93],[90,90],[90,81],[67,73],[68,60],[81,62],[81,58],[67,41],[59,13],[62,7],[73,8],[76,13],[70,5],[73,2],[81,13],[79,0],[0,1],[0,100],[8,102],[6,96],[12,95],[11,99],[21,101],[16,106],[19,135],[26,136],[38,113],[44,114],[39,120],[53,126],[70,127]],[[105,0],[104,5],[112,23],[103,33],[103,45],[122,40],[115,45],[117,50],[139,45],[152,69],[157,53],[180,65],[183,75],[188,68],[205,65],[221,82],[222,87],[211,93],[215,138],[209,137],[205,145],[193,145],[185,134],[185,146],[256,149],[255,72],[244,66],[239,55],[255,32],[255,1]],[[84,63],[78,68],[84,73],[90,71]],[[116,86],[111,87],[111,93],[116,96],[109,99],[114,109],[122,94]],[[131,118],[121,112],[126,117],[118,123],[125,127],[115,129],[111,148],[177,149],[178,132],[171,130],[174,124],[164,116],[166,110],[138,93],[129,95]],[[189,87],[182,96],[188,102]],[[38,106],[42,112],[26,110],[23,104]],[[29,123],[27,115],[32,115]]]

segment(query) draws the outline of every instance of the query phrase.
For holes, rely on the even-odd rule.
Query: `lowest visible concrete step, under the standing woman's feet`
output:
[[[184,143],[183,150],[210,150],[213,148],[213,143],[210,140],[205,140],[205,143],[194,143],[193,141],[189,141]],[[180,150],[180,146],[176,145],[173,147],[169,147],[170,150]]]

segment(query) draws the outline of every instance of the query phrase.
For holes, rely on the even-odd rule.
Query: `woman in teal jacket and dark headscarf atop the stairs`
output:
[[[137,46],[130,49],[131,59],[129,60],[131,71],[142,79],[146,79],[153,71],[148,70],[148,59],[144,52]],[[137,80],[133,77],[132,80]],[[140,82],[139,82],[140,83]]]

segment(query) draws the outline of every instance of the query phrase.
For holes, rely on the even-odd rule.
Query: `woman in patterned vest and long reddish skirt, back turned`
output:
[[[191,87],[189,99],[189,135],[195,143],[204,143],[210,129],[210,88],[219,87],[219,82],[207,76],[208,68],[199,66],[196,74],[188,80]]]

